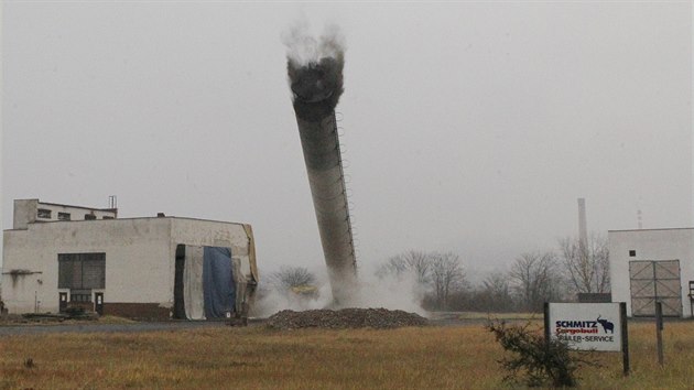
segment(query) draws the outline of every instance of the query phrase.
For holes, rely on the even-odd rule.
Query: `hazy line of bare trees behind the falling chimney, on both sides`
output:
[[[607,293],[607,239],[566,237],[557,248],[517,256],[506,270],[469,281],[464,260],[454,252],[408,250],[384,260],[376,275],[411,278],[421,304],[431,311],[541,312],[544,302],[575,301],[578,293]],[[285,267],[270,278],[280,291],[316,282],[307,269]]]

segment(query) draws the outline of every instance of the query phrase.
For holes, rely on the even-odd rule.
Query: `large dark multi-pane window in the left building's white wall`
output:
[[[58,289],[105,289],[106,253],[59,253]]]

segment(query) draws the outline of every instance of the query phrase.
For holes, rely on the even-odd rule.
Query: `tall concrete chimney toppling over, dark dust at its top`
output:
[[[336,40],[302,36],[314,57],[289,54],[288,74],[311,195],[318,223],[333,299],[348,305],[356,289],[356,257],[337,136],[335,106],[343,93],[344,52]],[[290,50],[292,45],[288,44]]]

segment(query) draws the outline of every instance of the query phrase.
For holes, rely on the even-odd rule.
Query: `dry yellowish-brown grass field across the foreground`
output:
[[[581,388],[694,388],[694,323],[665,325],[664,368],[654,326],[629,328],[631,376],[620,354],[595,354],[603,367],[582,368]],[[502,354],[479,325],[6,336],[0,389],[498,389]]]

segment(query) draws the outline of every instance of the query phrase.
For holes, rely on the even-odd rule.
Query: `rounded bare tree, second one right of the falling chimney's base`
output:
[[[465,285],[465,272],[460,258],[453,252],[432,253],[431,283],[434,288],[436,305],[447,310],[451,293]]]

